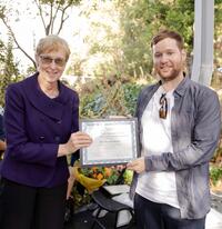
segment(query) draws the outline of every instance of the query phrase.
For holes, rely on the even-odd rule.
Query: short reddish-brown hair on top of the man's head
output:
[[[151,48],[165,38],[174,39],[180,50],[184,48],[184,41],[182,36],[179,32],[172,30],[161,30],[157,36],[154,36],[151,41]]]

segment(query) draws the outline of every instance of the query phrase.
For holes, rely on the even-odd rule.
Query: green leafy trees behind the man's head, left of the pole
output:
[[[121,26],[124,31],[123,53],[130,74],[152,72],[150,41],[160,29],[169,28],[179,31],[185,40],[189,51],[192,50],[194,1],[119,1]]]

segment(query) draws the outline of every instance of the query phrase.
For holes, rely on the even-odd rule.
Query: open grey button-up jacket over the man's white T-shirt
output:
[[[149,86],[139,96],[135,116],[140,137],[143,111],[159,87],[160,83]],[[181,217],[199,219],[210,210],[209,161],[220,138],[220,102],[213,90],[188,77],[178,86],[173,96],[173,153],[162,152],[160,156],[145,157],[145,170],[175,171]],[[134,173],[131,197],[134,195],[138,175]]]

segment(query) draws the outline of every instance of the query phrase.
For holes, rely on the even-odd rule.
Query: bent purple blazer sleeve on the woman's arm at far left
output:
[[[28,114],[19,87],[11,84],[6,93],[7,157],[27,163],[54,167],[59,145],[30,141],[24,121]]]

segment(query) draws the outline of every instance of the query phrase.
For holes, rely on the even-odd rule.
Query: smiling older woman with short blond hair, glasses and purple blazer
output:
[[[87,133],[78,131],[77,92],[59,80],[69,56],[63,39],[41,39],[38,72],[7,89],[1,229],[63,228],[65,156],[91,143]]]

